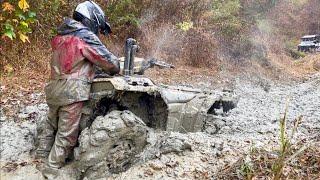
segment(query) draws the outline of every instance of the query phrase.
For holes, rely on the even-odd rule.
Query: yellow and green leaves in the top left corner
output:
[[[32,32],[30,27],[36,21],[36,13],[29,10],[26,0],[6,1],[2,3],[0,15],[0,36],[14,40],[19,34],[22,42],[29,41],[27,34]]]

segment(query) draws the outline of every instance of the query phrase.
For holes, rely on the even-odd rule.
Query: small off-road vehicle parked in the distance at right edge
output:
[[[306,35],[301,38],[298,51],[314,52],[320,50],[320,35]]]

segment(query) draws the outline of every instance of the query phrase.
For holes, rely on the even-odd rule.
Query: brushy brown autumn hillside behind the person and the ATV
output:
[[[15,25],[14,14],[19,7],[15,1],[6,2],[15,11],[3,11],[0,19],[2,76],[30,70],[46,74],[50,39],[63,17],[71,16],[76,1],[29,2],[29,11],[24,14],[32,12],[36,16],[28,24],[25,34],[29,42],[25,43],[19,41],[22,30]],[[123,56],[125,39],[133,37],[142,46],[140,56],[217,71],[252,65],[270,70],[277,70],[281,64],[291,66],[290,52],[296,49],[299,38],[320,31],[314,18],[320,15],[317,0],[132,0],[100,4],[105,7],[114,30],[112,36],[103,40],[116,55]],[[8,24],[17,34],[14,40],[4,34]]]

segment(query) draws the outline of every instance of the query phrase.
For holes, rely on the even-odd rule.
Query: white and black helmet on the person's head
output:
[[[95,34],[98,34],[99,30],[104,35],[112,32],[103,10],[93,1],[78,4],[73,13],[73,18],[87,26]]]

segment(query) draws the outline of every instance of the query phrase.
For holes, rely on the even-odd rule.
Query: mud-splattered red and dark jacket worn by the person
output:
[[[45,88],[49,104],[67,105],[88,100],[94,65],[109,74],[119,72],[117,57],[93,32],[73,19],[65,19],[51,46],[51,76]]]

